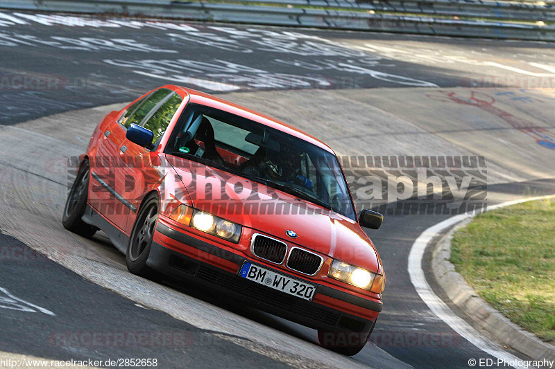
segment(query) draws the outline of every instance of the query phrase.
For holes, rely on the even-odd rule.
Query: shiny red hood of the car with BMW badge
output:
[[[223,170],[173,156],[168,160],[187,188],[194,208],[289,244],[382,272],[373,243],[352,219]],[[289,237],[286,231],[295,232],[297,237]]]

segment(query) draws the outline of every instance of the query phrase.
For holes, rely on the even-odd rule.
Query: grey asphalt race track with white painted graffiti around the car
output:
[[[240,302],[133,276],[102,234],[65,231],[65,165],[109,111],[176,83],[280,118],[344,156],[484,156],[488,205],[549,195],[554,57],[540,42],[0,12],[0,358],[138,357],[161,368],[468,368],[494,359],[438,318],[409,278],[414,240],[451,215],[399,214],[404,199],[384,199],[391,211],[368,233],[387,273],[384,311],[350,358]],[[353,171],[355,190],[357,181]],[[108,338],[86,341],[95,332]],[[169,341],[134,343],[144,333]]]

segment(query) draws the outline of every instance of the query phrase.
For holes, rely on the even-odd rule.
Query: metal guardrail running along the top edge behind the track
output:
[[[443,13],[438,12],[438,9],[445,9],[443,11],[446,15],[458,14],[464,17],[492,18],[491,13],[499,13],[501,16],[498,18],[504,19],[542,21],[545,19],[545,21],[549,21],[549,19],[555,17],[555,6],[552,6],[552,4],[461,0],[393,0],[373,1],[373,3],[355,3],[350,0],[252,1],[262,3],[262,5],[167,0],[3,0],[0,2],[0,8],[104,15],[118,14],[131,17],[162,17],[273,26],[373,30],[424,35],[555,41],[555,26],[551,25],[428,16],[429,14],[443,15]],[[307,8],[323,6],[326,8]],[[348,6],[351,7],[351,10],[330,10],[330,8],[343,9],[348,8]],[[353,11],[355,9],[367,11]],[[390,11],[418,15],[384,13]],[[446,12],[449,12],[449,14]],[[422,16],[419,16],[420,14]],[[533,15],[536,15],[536,17],[533,17]]]

